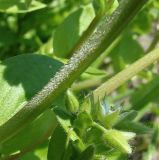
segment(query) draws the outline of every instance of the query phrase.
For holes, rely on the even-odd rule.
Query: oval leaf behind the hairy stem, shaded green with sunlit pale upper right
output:
[[[67,57],[94,16],[95,13],[91,4],[83,6],[69,15],[55,31],[53,40],[55,55]]]

